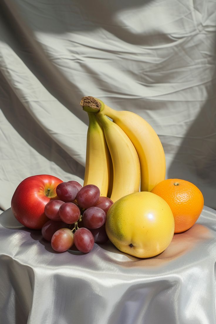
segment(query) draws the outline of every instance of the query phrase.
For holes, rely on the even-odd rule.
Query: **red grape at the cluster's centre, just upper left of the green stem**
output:
[[[74,224],[80,218],[80,209],[74,203],[63,203],[59,208],[59,215],[66,224]]]

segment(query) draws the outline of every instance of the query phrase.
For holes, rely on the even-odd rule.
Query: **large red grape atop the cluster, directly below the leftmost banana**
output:
[[[61,184],[61,183],[60,183]],[[57,187],[58,188],[58,187]],[[76,195],[76,201],[82,208],[95,206],[100,197],[100,190],[94,184],[87,184]]]

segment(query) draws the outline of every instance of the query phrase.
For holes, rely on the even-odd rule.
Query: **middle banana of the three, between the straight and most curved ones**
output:
[[[110,199],[119,198],[139,191],[140,163],[137,152],[129,137],[103,113],[97,113],[106,137],[113,165],[113,187]]]

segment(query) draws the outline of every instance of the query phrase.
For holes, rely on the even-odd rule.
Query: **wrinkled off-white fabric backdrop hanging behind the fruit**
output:
[[[83,183],[83,96],[146,119],[216,209],[215,31],[215,0],[2,0],[1,211],[28,176]]]

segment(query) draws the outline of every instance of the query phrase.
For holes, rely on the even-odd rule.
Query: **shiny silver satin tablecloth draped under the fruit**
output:
[[[216,212],[204,206],[160,255],[111,242],[57,253],[41,232],[0,215],[0,323],[214,324]]]

